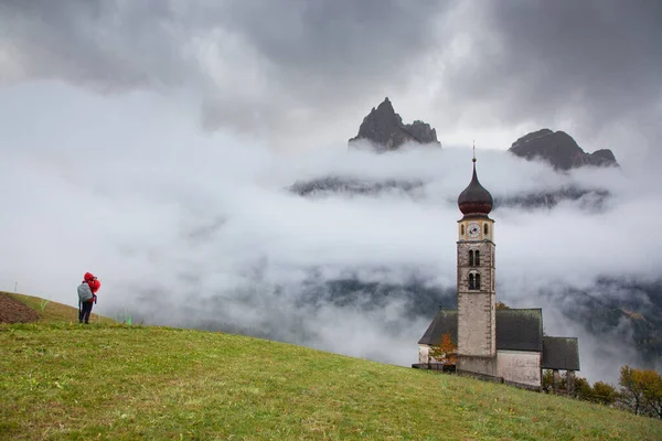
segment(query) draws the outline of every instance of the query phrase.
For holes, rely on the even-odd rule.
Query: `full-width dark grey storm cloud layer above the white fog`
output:
[[[662,136],[660,23],[645,0],[4,0],[0,80],[182,87],[207,129],[309,138],[395,96],[441,135],[551,127],[622,157]]]

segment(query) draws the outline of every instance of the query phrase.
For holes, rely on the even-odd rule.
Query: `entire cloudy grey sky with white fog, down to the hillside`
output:
[[[0,0],[0,289],[75,304],[90,270],[102,311],[284,323],[282,340],[305,329],[311,346],[407,365],[429,318],[406,321],[402,299],[311,310],[302,287],[310,268],[394,282],[416,268],[451,288],[476,140],[496,196],[612,193],[599,214],[494,212],[498,295],[549,306],[548,333],[585,338],[581,374],[612,378],[607,349],[527,293],[660,273],[661,23],[645,0]],[[444,150],[348,152],[386,96]],[[504,152],[545,127],[622,168],[558,175]],[[418,200],[281,191],[330,174],[429,185]],[[398,330],[393,351],[375,323]]]

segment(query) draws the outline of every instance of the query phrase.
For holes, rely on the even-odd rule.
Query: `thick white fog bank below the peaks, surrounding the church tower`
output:
[[[0,289],[19,282],[19,291],[75,305],[75,286],[93,271],[103,282],[96,311],[110,316],[417,361],[436,310],[456,306],[456,201],[471,178],[469,148],[275,154],[218,138],[178,142],[113,154],[4,152],[9,215],[0,227],[11,234],[0,246],[12,259],[0,268]],[[596,305],[627,305],[650,322],[660,309],[656,178],[627,169],[559,174],[503,151],[477,155],[495,198],[569,186],[608,192],[598,208],[584,197],[496,206],[496,295],[513,308],[544,308],[548,335],[579,336],[579,375],[591,381],[615,381],[620,364],[644,363],[631,316],[587,318]],[[425,186],[417,197],[288,191],[324,176]]]

